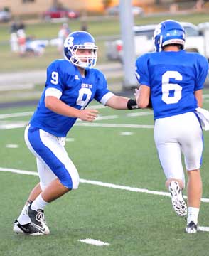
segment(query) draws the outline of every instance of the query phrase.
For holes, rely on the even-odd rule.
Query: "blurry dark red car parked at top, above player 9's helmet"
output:
[[[53,7],[43,13],[43,18],[45,20],[50,20],[52,18],[78,18],[79,16],[79,12],[67,8]]]

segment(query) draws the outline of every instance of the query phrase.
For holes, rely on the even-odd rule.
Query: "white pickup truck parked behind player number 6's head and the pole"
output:
[[[134,43],[136,57],[154,51],[154,42],[152,36],[157,24],[134,26]],[[205,38],[198,26],[193,23],[181,22],[181,25],[186,31],[185,50],[197,52],[205,55]],[[209,42],[208,42],[209,44]],[[107,41],[106,57],[108,60],[119,60],[122,62],[123,58],[123,43],[121,39],[114,41]],[[208,45],[209,47],[209,45]],[[209,55],[205,56],[209,59]]]

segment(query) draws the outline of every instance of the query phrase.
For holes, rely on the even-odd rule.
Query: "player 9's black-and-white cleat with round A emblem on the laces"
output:
[[[44,218],[44,211],[41,209],[32,210],[31,204],[28,204],[28,216],[31,218],[31,223],[43,234],[48,235],[50,230]]]

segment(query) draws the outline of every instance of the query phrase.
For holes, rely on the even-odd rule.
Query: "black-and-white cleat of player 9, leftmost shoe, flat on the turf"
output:
[[[15,220],[13,225],[13,231],[16,234],[25,234],[25,235],[44,235],[38,228],[36,228],[33,223],[28,223],[21,225],[18,223],[18,220]]]

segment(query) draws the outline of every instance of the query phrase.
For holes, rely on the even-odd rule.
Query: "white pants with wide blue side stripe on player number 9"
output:
[[[65,138],[55,137],[48,132],[28,125],[25,130],[28,149],[36,156],[40,186],[43,190],[55,178],[63,186],[76,189],[79,175],[73,161],[65,150]]]

